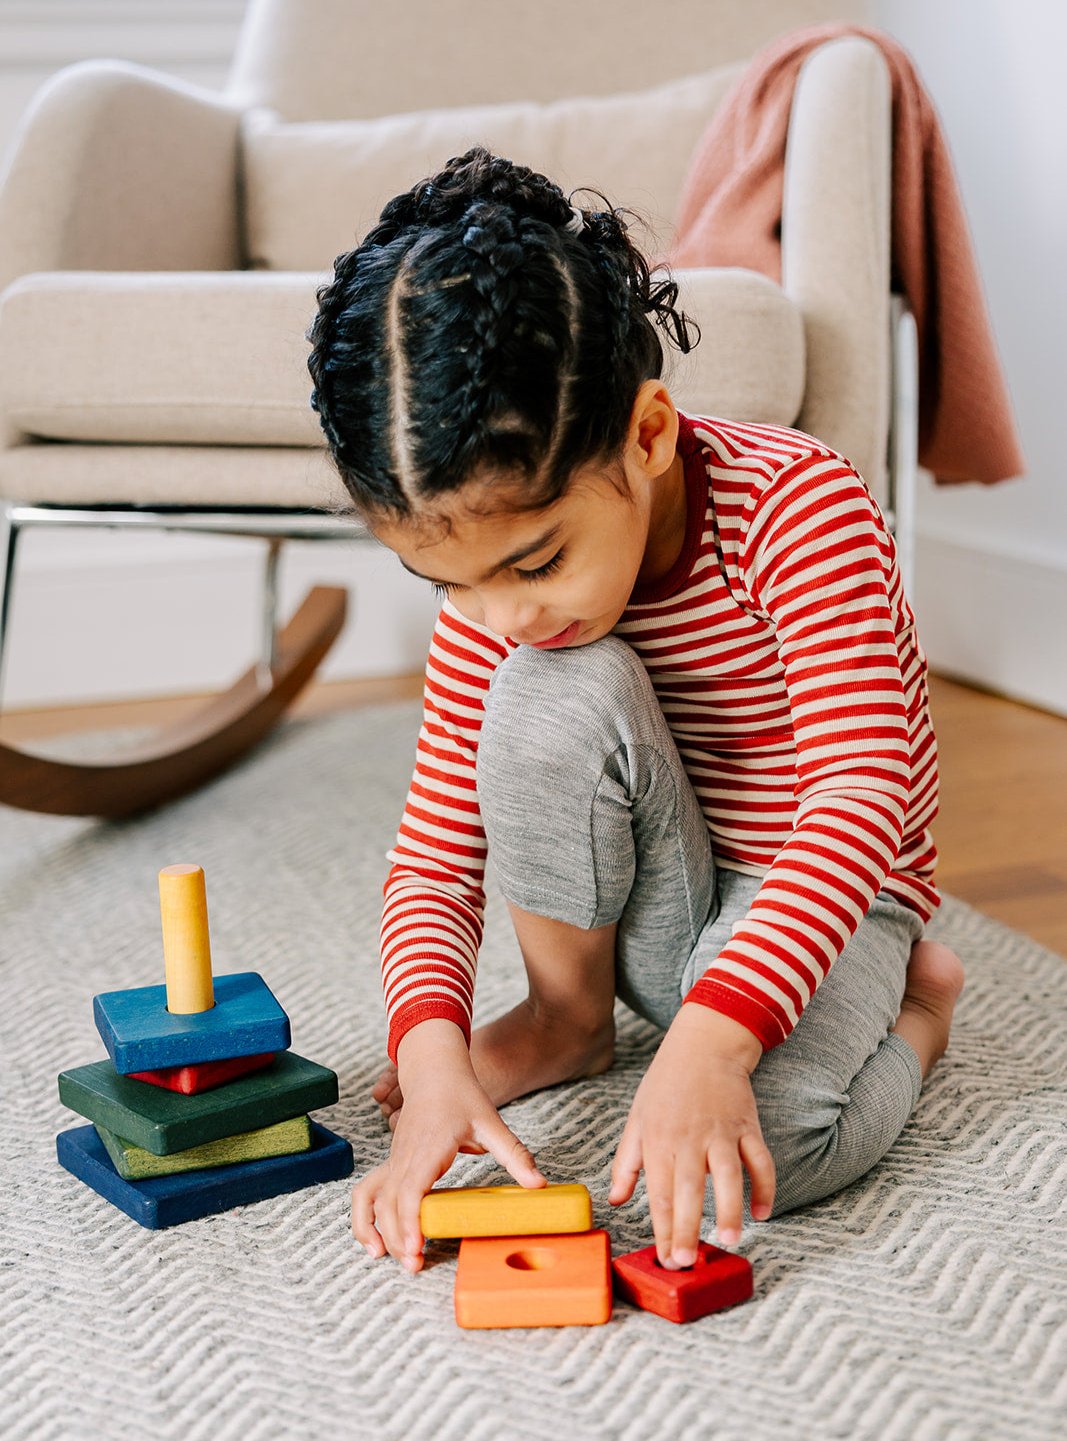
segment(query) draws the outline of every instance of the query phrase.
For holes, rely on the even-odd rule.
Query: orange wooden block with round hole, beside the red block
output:
[[[611,1242],[606,1231],[460,1242],[456,1320],[464,1329],[603,1326],[610,1319]]]

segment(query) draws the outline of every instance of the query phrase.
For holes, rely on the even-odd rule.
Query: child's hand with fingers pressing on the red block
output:
[[[753,1180],[753,1216],[770,1215],[774,1161],[748,1079],[761,1055],[760,1042],[740,1022],[683,1004],[637,1088],[607,1199],[614,1206],[629,1200],[645,1169],[660,1265],[696,1261],[708,1172],[721,1244],[741,1238],[743,1164]]]

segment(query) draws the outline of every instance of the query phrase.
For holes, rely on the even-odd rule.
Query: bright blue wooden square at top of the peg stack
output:
[[[97,1030],[120,1075],[287,1050],[288,1016],[255,971],[215,977],[215,1004],[172,1016],[166,986],[104,991],[92,1000]]]

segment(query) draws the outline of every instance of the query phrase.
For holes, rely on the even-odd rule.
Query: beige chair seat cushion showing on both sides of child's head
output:
[[[319,447],[304,333],[323,278],[25,275],[0,300],[0,414],[43,440]],[[790,425],[805,385],[793,303],[753,271],[678,271],[675,280],[678,304],[702,330],[688,356],[665,343],[663,378],[676,402]]]

